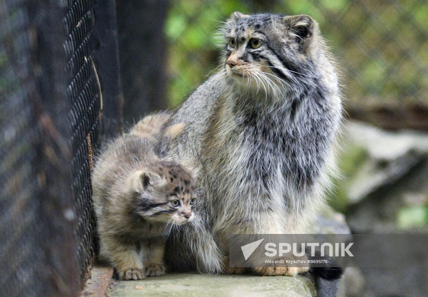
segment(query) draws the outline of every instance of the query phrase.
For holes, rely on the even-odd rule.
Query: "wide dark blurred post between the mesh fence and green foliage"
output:
[[[117,0],[119,57],[127,126],[168,107],[164,23],[169,0]]]

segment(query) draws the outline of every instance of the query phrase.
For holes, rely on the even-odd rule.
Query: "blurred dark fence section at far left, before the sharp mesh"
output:
[[[62,12],[1,4],[1,296],[75,296]],[[44,9],[36,9],[44,6]],[[66,266],[67,265],[67,266]]]

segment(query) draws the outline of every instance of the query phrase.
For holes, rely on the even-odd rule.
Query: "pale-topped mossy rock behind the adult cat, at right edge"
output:
[[[428,159],[428,134],[386,132],[358,122],[345,125],[341,173],[333,205],[345,210],[378,189],[392,185]]]

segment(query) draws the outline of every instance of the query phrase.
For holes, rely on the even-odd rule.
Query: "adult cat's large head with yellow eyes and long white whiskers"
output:
[[[318,24],[308,15],[243,15],[223,26],[223,63],[238,85],[263,94],[304,88],[316,76]]]

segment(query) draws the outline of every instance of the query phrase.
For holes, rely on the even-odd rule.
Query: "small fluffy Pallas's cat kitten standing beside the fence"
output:
[[[191,171],[159,159],[148,138],[127,135],[107,145],[92,187],[101,254],[119,279],[164,274],[166,236],[194,218]]]

